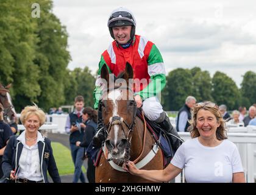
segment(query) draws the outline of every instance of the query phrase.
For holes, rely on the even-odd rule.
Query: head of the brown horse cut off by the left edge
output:
[[[10,97],[10,91],[9,88],[12,85],[9,84],[6,87],[2,86],[0,83],[0,103],[4,107],[4,119],[5,121],[13,121],[16,116],[15,109],[12,105],[12,99]]]

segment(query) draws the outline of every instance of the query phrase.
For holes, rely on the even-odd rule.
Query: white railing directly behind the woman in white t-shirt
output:
[[[246,127],[244,127],[246,128]],[[178,132],[180,137],[186,141],[191,139],[190,133],[188,132]],[[254,179],[256,179],[256,174],[254,173],[255,167],[255,159],[254,159],[254,146],[256,144],[256,133],[227,133],[227,137],[230,141],[236,144],[238,147],[238,151],[240,152],[240,157],[242,161],[242,165],[244,168],[244,175],[246,177],[247,183],[254,183]],[[185,174],[182,171],[179,176],[175,179],[176,183],[185,182]]]

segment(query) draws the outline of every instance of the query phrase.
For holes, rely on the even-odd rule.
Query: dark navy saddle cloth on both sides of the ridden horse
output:
[[[137,109],[137,116],[143,121],[143,116],[140,109]],[[174,155],[171,142],[169,141],[169,138],[166,135],[165,130],[162,129],[162,127],[160,127],[156,122],[150,121],[148,118],[146,118],[146,116],[144,116],[144,118],[149,132],[151,133],[152,137],[154,138],[160,149],[162,149],[164,167],[166,167]],[[93,147],[92,142],[87,147],[87,154],[89,154],[91,159],[93,160],[94,166],[99,165],[99,160],[101,158],[102,152],[102,147],[95,148]]]

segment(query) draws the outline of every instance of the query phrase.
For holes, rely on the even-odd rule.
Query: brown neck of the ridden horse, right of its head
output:
[[[143,148],[143,138],[146,136],[145,146],[142,158],[148,154],[150,151],[152,144],[154,143],[154,140],[151,137],[151,134],[149,133],[149,130],[146,129],[146,134],[144,135],[144,124],[143,121],[141,121],[138,116],[135,119],[136,125],[133,129],[132,133],[132,140],[131,140],[131,146],[130,146],[130,159],[135,160],[138,158],[138,156],[141,154],[142,148]]]

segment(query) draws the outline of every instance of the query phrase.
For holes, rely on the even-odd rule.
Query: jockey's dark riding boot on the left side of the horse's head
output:
[[[99,101],[98,107],[98,120],[97,120],[97,132],[93,137],[93,147],[100,148],[102,147],[102,142],[105,141],[105,132],[102,119],[102,103]]]

